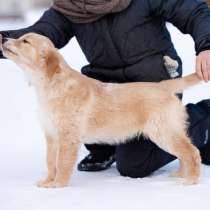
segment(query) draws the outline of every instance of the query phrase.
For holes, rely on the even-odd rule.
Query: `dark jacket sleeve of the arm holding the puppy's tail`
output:
[[[148,0],[151,14],[163,17],[195,41],[196,54],[210,49],[210,9],[201,0]]]

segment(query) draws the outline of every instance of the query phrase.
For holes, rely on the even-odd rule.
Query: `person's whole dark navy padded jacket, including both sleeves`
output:
[[[122,12],[87,24],[72,23],[50,8],[30,27],[0,33],[11,38],[39,33],[57,48],[75,36],[89,61],[83,74],[105,82],[160,81],[171,77],[164,55],[179,62],[182,74],[167,21],[193,37],[197,54],[210,49],[210,9],[199,0],[133,0]]]

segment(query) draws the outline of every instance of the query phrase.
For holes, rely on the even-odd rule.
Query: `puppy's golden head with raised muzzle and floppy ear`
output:
[[[46,37],[28,33],[19,39],[5,39],[3,55],[13,60],[27,73],[51,77],[58,71],[59,54]]]

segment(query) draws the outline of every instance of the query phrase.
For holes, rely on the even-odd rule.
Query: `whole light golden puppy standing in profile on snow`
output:
[[[81,143],[120,144],[140,134],[180,160],[174,175],[198,182],[200,155],[175,96],[200,82],[196,74],[159,83],[102,83],[73,70],[48,38],[33,33],[8,39],[3,54],[23,68],[37,91],[48,166],[38,186],[67,186]]]

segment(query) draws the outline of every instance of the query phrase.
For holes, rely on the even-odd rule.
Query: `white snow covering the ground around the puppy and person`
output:
[[[0,23],[0,30],[32,23],[40,12],[24,23]],[[176,48],[184,61],[184,73],[194,69],[191,38],[169,25]],[[86,63],[76,41],[61,51],[76,69]],[[121,177],[115,166],[98,173],[75,170],[71,186],[40,189],[34,183],[46,173],[45,142],[39,128],[33,88],[11,61],[0,63],[0,210],[148,210],[209,208],[210,167],[203,166],[201,183],[182,186],[169,177],[177,161],[144,179]],[[200,85],[185,92],[184,103],[210,97],[210,86]],[[82,148],[80,158],[86,153]],[[79,158],[79,159],[80,159]]]

